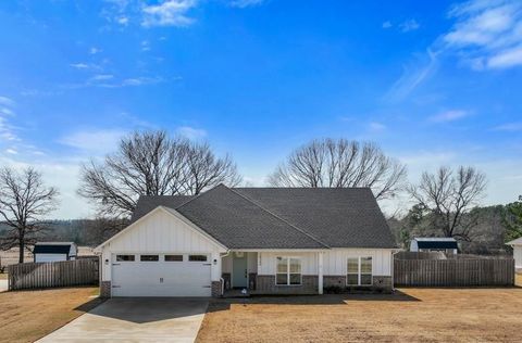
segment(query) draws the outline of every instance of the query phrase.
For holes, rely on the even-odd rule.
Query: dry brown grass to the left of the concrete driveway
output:
[[[0,293],[0,342],[34,342],[101,303],[98,288]]]

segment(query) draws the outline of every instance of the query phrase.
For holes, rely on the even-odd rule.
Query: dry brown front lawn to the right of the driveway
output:
[[[522,289],[214,301],[198,342],[522,342]]]

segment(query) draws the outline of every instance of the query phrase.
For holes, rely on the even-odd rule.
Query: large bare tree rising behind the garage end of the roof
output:
[[[139,195],[194,195],[238,180],[232,160],[215,156],[209,144],[145,131],[124,137],[102,163],[84,165],[78,193],[98,206],[100,216],[126,217]]]

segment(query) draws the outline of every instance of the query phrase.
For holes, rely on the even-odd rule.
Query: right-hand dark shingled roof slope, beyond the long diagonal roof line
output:
[[[236,188],[332,247],[395,247],[369,188]]]

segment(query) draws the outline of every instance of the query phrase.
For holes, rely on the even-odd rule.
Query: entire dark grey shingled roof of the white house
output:
[[[368,188],[220,185],[188,199],[141,196],[133,221],[154,206],[176,209],[229,249],[396,247]]]

